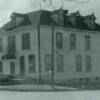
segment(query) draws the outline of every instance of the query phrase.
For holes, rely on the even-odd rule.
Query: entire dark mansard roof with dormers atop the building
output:
[[[5,30],[12,30],[16,27],[26,26],[26,25],[49,25],[51,26],[53,23],[53,18],[56,18],[56,21],[59,19],[56,15],[52,17],[53,14],[57,14],[56,12],[61,11],[62,9],[56,10],[56,11],[47,11],[47,10],[38,10],[34,12],[30,12],[27,14],[19,14],[19,13],[13,13],[11,15],[11,21],[8,22],[3,26]],[[90,14],[87,16],[82,16],[79,11],[76,11],[71,14],[67,14],[67,10],[62,10],[62,18],[63,18],[63,27],[70,27],[70,28],[77,28],[77,29],[83,29],[83,30],[95,30],[100,31],[100,25],[94,22],[95,28],[92,29],[87,25],[87,21],[85,22],[85,19],[94,18],[94,14]],[[60,15],[61,17],[61,15]],[[55,20],[55,19],[54,19]],[[61,20],[61,19],[60,19]],[[59,23],[54,23],[55,26],[60,26]]]

